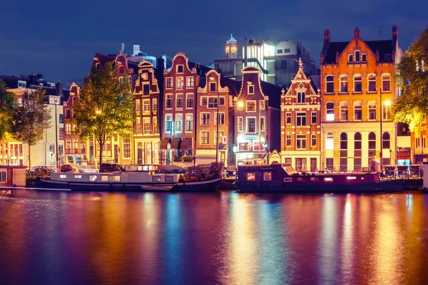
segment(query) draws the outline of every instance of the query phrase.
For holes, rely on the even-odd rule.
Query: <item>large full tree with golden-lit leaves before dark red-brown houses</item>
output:
[[[93,68],[83,80],[83,88],[73,105],[73,123],[82,140],[95,137],[103,146],[113,135],[132,131],[133,97],[128,81],[120,81],[112,63]]]

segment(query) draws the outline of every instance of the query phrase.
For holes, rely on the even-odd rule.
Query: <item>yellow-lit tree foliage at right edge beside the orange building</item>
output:
[[[394,121],[409,124],[410,131],[419,137],[428,117],[428,28],[397,64],[395,81],[403,94],[392,105]]]

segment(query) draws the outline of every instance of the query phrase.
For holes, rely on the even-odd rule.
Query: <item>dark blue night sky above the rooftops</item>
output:
[[[403,50],[428,27],[428,1],[1,1],[0,73],[42,73],[65,85],[88,73],[97,51],[125,52],[132,45],[154,56],[183,51],[191,61],[223,58],[230,33],[243,38],[297,40],[319,63],[323,31],[348,41],[356,26],[364,40],[391,38],[398,26]]]

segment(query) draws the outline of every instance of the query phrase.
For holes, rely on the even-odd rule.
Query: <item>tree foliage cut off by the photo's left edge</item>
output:
[[[15,93],[9,92],[6,84],[0,79],[0,140],[10,132],[14,113]]]

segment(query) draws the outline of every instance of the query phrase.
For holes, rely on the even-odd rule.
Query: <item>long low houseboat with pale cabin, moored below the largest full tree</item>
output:
[[[44,190],[213,192],[220,177],[189,180],[183,173],[141,169],[125,172],[53,172],[50,179],[39,178],[35,187]]]

